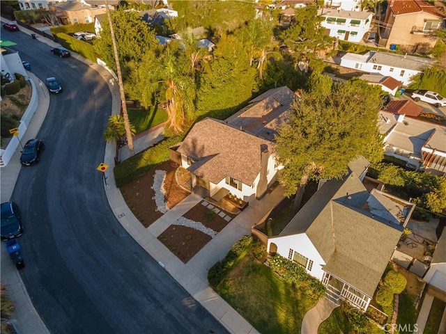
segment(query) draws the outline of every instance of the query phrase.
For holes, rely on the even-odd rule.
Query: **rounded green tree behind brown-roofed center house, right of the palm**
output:
[[[243,42],[233,35],[222,35],[213,61],[204,64],[197,95],[198,112],[236,108],[252,96],[255,77],[256,70],[249,65]]]

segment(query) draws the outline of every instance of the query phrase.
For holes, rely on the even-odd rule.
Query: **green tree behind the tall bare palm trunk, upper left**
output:
[[[157,47],[158,42],[155,33],[136,11],[112,10],[110,16],[125,81],[125,78],[128,77],[128,63],[130,61],[141,62],[147,49]],[[116,71],[112,35],[108,24],[102,24],[100,38],[95,40],[94,45],[95,51],[102,61],[105,61],[107,66]]]

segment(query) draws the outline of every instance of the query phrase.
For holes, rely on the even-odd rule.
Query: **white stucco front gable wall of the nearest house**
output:
[[[295,234],[286,237],[272,237],[268,239],[268,251],[270,251],[270,245],[275,244],[277,246],[277,254],[288,258],[290,248],[295,252],[298,252],[308,260],[313,261],[312,271],[308,271],[309,274],[322,280],[324,271],[322,266],[325,265],[321,255],[318,250],[314,247],[312,241],[307,237],[307,234]]]

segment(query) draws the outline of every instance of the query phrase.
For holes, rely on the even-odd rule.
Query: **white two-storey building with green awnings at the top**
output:
[[[349,42],[360,42],[370,29],[373,13],[353,10],[322,9],[318,13],[325,17],[321,25],[331,37]]]

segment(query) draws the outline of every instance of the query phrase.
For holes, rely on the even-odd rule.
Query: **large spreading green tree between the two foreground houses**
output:
[[[343,177],[348,163],[380,140],[381,94],[380,88],[354,79],[334,84],[325,96],[302,92],[293,102],[289,122],[276,138],[276,152],[284,166],[280,181],[286,195],[299,190],[296,209],[309,180]]]

